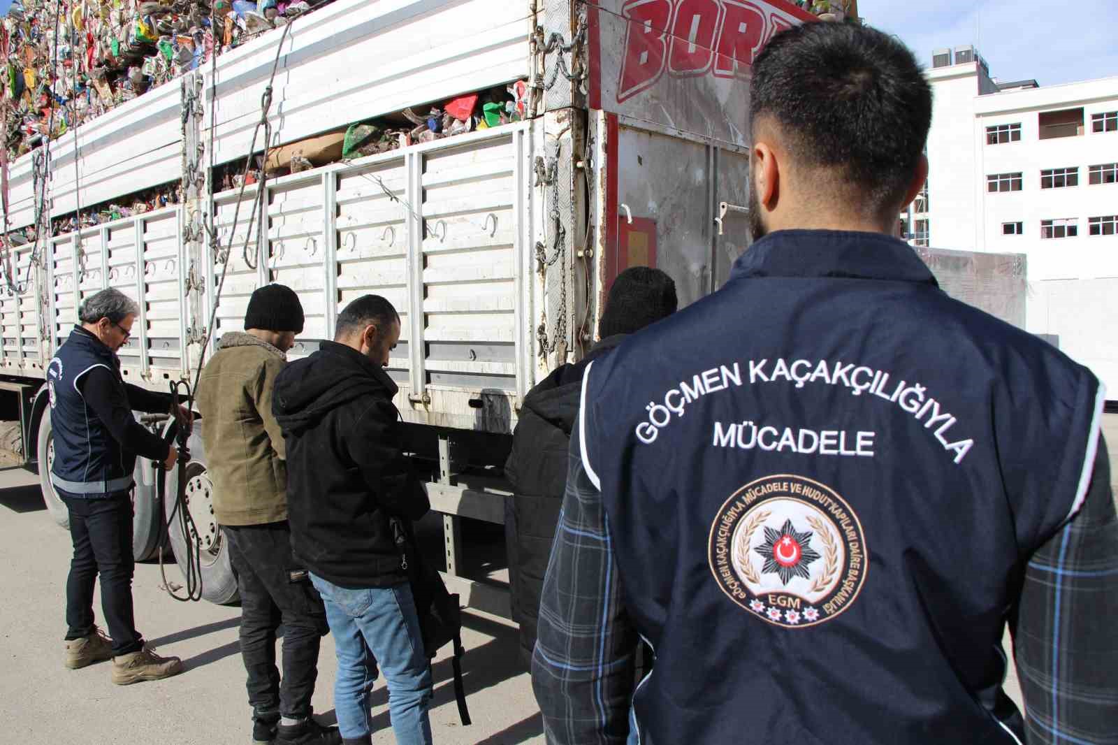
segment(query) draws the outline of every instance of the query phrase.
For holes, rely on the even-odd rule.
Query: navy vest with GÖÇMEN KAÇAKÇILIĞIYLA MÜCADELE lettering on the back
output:
[[[639,742],[1023,742],[1002,635],[1103,392],[904,243],[792,230],[585,377]]]

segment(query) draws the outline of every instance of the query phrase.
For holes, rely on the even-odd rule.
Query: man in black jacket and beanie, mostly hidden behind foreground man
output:
[[[543,573],[567,484],[567,447],[578,415],[586,366],[619,345],[627,334],[675,312],[675,282],[664,272],[632,266],[614,281],[598,338],[575,364],[560,365],[524,396],[512,453],[504,472],[515,497],[505,501],[504,528],[512,585],[512,615],[520,624],[521,657],[532,663]]]

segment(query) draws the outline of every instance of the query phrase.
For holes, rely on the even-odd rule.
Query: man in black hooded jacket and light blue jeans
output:
[[[334,706],[347,745],[372,742],[377,663],[388,681],[397,742],[432,742],[430,667],[390,524],[430,509],[423,490],[409,488],[397,445],[398,388],[381,369],[399,337],[391,303],[359,298],[339,314],[334,341],[284,368],[272,400],[287,450],[292,553],[326,606],[338,654]]]

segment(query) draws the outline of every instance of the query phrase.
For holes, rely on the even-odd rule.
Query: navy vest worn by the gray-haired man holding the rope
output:
[[[120,359],[80,327],[74,328],[47,366],[55,438],[50,482],[73,497],[106,497],[133,484],[135,453],[121,446],[78,390],[78,380],[95,367],[111,370],[124,387]]]

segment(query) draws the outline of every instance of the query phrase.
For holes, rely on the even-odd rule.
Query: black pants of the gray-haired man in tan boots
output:
[[[74,558],[66,579],[66,639],[93,631],[93,585],[101,575],[101,612],[113,638],[113,656],[143,648],[132,610],[132,497],[126,491],[104,498],[59,494],[69,508]]]

